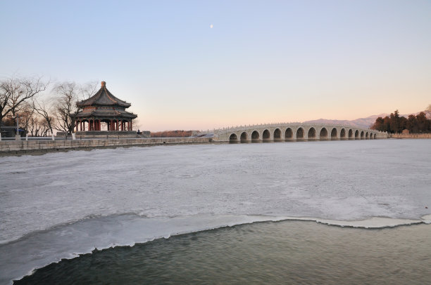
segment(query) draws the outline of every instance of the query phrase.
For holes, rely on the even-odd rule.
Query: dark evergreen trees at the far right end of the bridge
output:
[[[427,107],[427,111],[431,112],[431,105]],[[416,116],[411,114],[406,118],[400,116],[396,110],[385,118],[378,117],[371,128],[388,133],[402,133],[406,129],[410,133],[430,133],[431,119],[427,119],[425,112],[420,112]]]

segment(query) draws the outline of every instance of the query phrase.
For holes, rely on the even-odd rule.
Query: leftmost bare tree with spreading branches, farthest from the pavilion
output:
[[[0,81],[0,121],[7,115],[15,117],[23,102],[46,90],[49,85],[37,79],[9,78]]]

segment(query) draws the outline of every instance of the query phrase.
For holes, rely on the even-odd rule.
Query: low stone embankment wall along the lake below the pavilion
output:
[[[120,138],[89,140],[2,140],[0,155],[38,154],[67,150],[212,143],[212,138]]]

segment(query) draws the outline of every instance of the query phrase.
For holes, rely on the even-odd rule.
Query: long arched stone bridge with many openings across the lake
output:
[[[214,130],[214,140],[230,143],[261,143],[301,140],[370,140],[388,138],[380,131],[332,124],[261,124]]]

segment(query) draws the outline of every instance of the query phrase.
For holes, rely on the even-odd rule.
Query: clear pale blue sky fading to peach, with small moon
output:
[[[431,1],[0,0],[0,78],[106,81],[141,130],[431,104]]]

